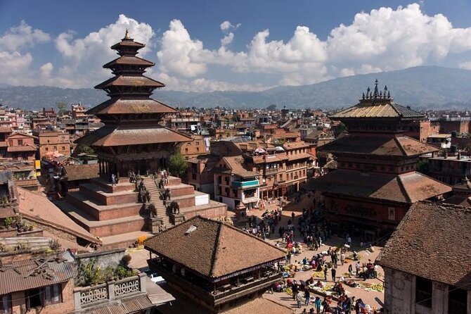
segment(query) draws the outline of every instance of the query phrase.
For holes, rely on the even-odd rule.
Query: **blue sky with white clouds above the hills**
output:
[[[93,87],[128,27],[168,89],[259,90],[415,65],[471,69],[471,1],[0,0],[0,82]]]

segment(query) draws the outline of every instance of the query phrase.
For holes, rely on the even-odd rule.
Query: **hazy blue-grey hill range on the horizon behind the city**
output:
[[[378,78],[397,103],[413,108],[471,109],[471,70],[420,66],[404,70],[340,77],[318,84],[284,86],[263,92],[176,92],[157,90],[154,98],[171,106],[226,106],[265,108],[339,108],[356,103],[366,88]],[[39,109],[56,106],[58,101],[96,106],[108,99],[96,89],[61,89],[58,87],[13,87],[0,84],[0,103],[5,106]]]

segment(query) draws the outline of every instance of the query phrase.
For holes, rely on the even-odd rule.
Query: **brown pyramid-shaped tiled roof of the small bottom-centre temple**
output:
[[[196,229],[186,233],[191,226]],[[148,239],[146,249],[207,278],[271,263],[285,251],[223,222],[196,216]]]

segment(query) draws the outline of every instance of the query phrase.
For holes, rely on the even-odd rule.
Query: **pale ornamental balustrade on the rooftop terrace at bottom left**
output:
[[[146,274],[74,289],[75,310],[146,293]]]

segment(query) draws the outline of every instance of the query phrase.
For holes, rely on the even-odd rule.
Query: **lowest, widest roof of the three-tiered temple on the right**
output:
[[[361,175],[359,171],[339,169],[319,177],[312,184],[318,191],[400,203],[414,203],[451,191],[449,185],[420,172]]]

